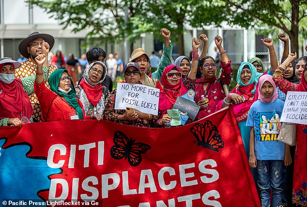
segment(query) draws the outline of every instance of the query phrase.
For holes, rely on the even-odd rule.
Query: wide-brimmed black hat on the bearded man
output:
[[[37,38],[42,38],[45,42],[47,42],[49,44],[49,46],[50,46],[50,49],[54,45],[54,38],[50,34],[33,32],[33,33],[29,34],[29,36],[27,38],[23,39],[21,41],[21,43],[19,44],[18,50],[19,50],[20,54],[22,54],[22,56],[24,56],[25,58],[29,58],[30,57],[30,54],[28,52],[27,47],[29,46],[29,43],[32,40],[35,40]]]

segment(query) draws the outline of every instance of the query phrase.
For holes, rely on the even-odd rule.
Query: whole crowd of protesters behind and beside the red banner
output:
[[[109,53],[107,58],[107,53],[99,47],[90,48],[78,60],[69,54],[67,60],[61,51],[51,53],[53,36],[31,33],[19,44],[21,63],[0,59],[0,126],[104,119],[136,127],[164,127],[172,120],[168,110],[178,96],[194,90],[192,100],[200,111],[195,119],[186,120],[186,124],[230,107],[240,128],[262,206],[307,206],[307,126],[297,125],[296,147],[255,136],[260,128],[256,114],[262,114],[261,133],[278,134],[280,127],[273,126],[281,125],[287,92],[307,92],[307,57],[297,59],[296,53],[289,54],[289,39],[280,34],[278,37],[285,47],[279,63],[273,40],[265,38],[261,41],[269,50],[269,71],[264,71],[261,59],[251,58],[240,65],[237,77],[233,77],[237,86],[228,93],[233,70],[222,47],[222,37],[215,36],[218,52],[215,59],[207,55],[208,38],[201,34],[200,40],[194,37],[191,41],[191,58],[180,56],[172,64],[170,31],[163,28],[160,33],[164,38],[161,59],[155,52],[149,56],[137,48],[126,64],[118,53],[115,56]],[[217,64],[221,66],[220,73],[216,73]],[[151,68],[156,70],[151,73]],[[125,83],[160,91],[158,115],[131,108],[115,109],[117,89],[113,90],[112,81],[121,75]]]

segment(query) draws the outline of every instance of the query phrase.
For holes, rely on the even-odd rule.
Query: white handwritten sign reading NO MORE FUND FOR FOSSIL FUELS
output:
[[[118,83],[114,109],[133,107],[143,113],[158,115],[160,90],[141,84]]]

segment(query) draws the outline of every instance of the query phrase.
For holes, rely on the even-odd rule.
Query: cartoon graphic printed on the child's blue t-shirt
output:
[[[261,112],[257,115],[259,117],[259,126],[255,125],[257,139],[259,141],[276,141],[281,128],[280,113]]]

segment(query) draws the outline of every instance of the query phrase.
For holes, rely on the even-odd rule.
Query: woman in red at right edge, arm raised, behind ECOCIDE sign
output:
[[[289,64],[297,57],[296,53],[289,54],[288,58],[277,67],[273,80],[279,85],[283,83],[282,92],[287,94],[288,91],[307,92],[307,64],[304,67],[304,73],[301,77],[300,84],[295,84],[283,80],[285,70]],[[296,131],[296,150],[294,156],[294,176],[293,176],[293,191],[292,202],[296,205],[307,206],[307,126],[297,124]]]

